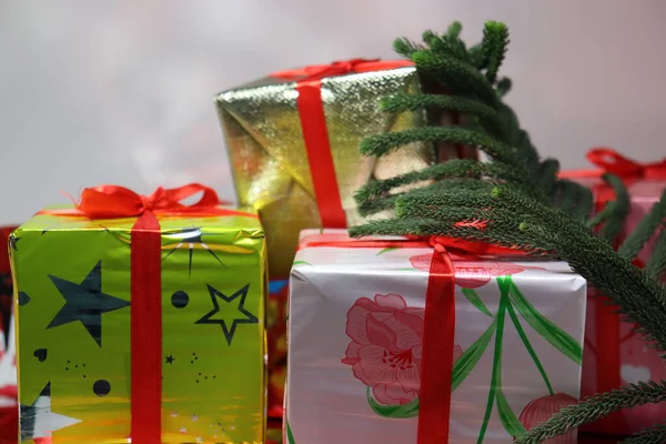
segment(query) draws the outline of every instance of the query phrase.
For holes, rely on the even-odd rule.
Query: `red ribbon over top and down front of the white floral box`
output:
[[[314,238],[316,239],[319,235]],[[335,239],[323,241],[309,241],[306,236],[299,245],[299,250],[321,246],[434,249],[425,294],[417,444],[447,443],[455,335],[455,269],[446,249],[463,250],[466,253],[476,255],[519,254],[519,252],[481,242],[441,236],[397,240]]]

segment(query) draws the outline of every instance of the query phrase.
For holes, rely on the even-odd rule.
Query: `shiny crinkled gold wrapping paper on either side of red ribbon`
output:
[[[239,201],[254,206],[261,216],[273,279],[289,275],[299,232],[321,226],[295,87],[295,82],[266,78],[216,97]],[[414,68],[322,80],[337,185],[350,225],[362,220],[355,211],[354,193],[371,178],[387,179],[434,161],[432,147],[421,143],[380,160],[359,151],[360,142],[369,135],[424,124],[421,112],[395,117],[379,107],[382,97],[418,89]]]

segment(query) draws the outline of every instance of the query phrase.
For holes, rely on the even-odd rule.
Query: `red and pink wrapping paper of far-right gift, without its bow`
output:
[[[596,191],[599,201],[601,181],[583,180]],[[627,183],[630,210],[624,228],[624,236],[633,232],[638,222],[659,201],[666,189],[665,180],[639,180]],[[603,205],[601,205],[603,208]],[[647,263],[655,239],[638,255],[638,264]],[[607,305],[607,299],[589,292],[589,310],[585,332],[583,357],[583,396],[617,389],[619,385],[640,381],[666,380],[666,363],[658,352],[647,346],[643,336],[635,332],[636,325],[615,315],[616,309]],[[633,434],[666,417],[666,405],[648,404],[625,410],[608,420],[585,426],[586,431],[608,434]]]

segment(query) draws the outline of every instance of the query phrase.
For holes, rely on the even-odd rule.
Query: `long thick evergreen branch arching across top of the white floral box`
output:
[[[470,206],[484,209],[487,215]],[[404,196],[396,201],[396,213],[398,218],[414,216],[418,232],[410,234],[486,241],[548,252],[568,262],[619,305],[628,320],[640,324],[659,350],[666,350],[666,290],[565,213],[504,188],[495,188],[492,195],[458,191],[455,195]],[[371,231],[363,229],[364,234]]]

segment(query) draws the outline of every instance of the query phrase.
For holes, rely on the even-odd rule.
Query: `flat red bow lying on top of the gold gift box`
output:
[[[326,77],[344,75],[354,72],[382,71],[413,67],[408,60],[350,59],[329,64],[311,64],[286,71],[273,72],[271,77],[284,80],[321,80]]]

